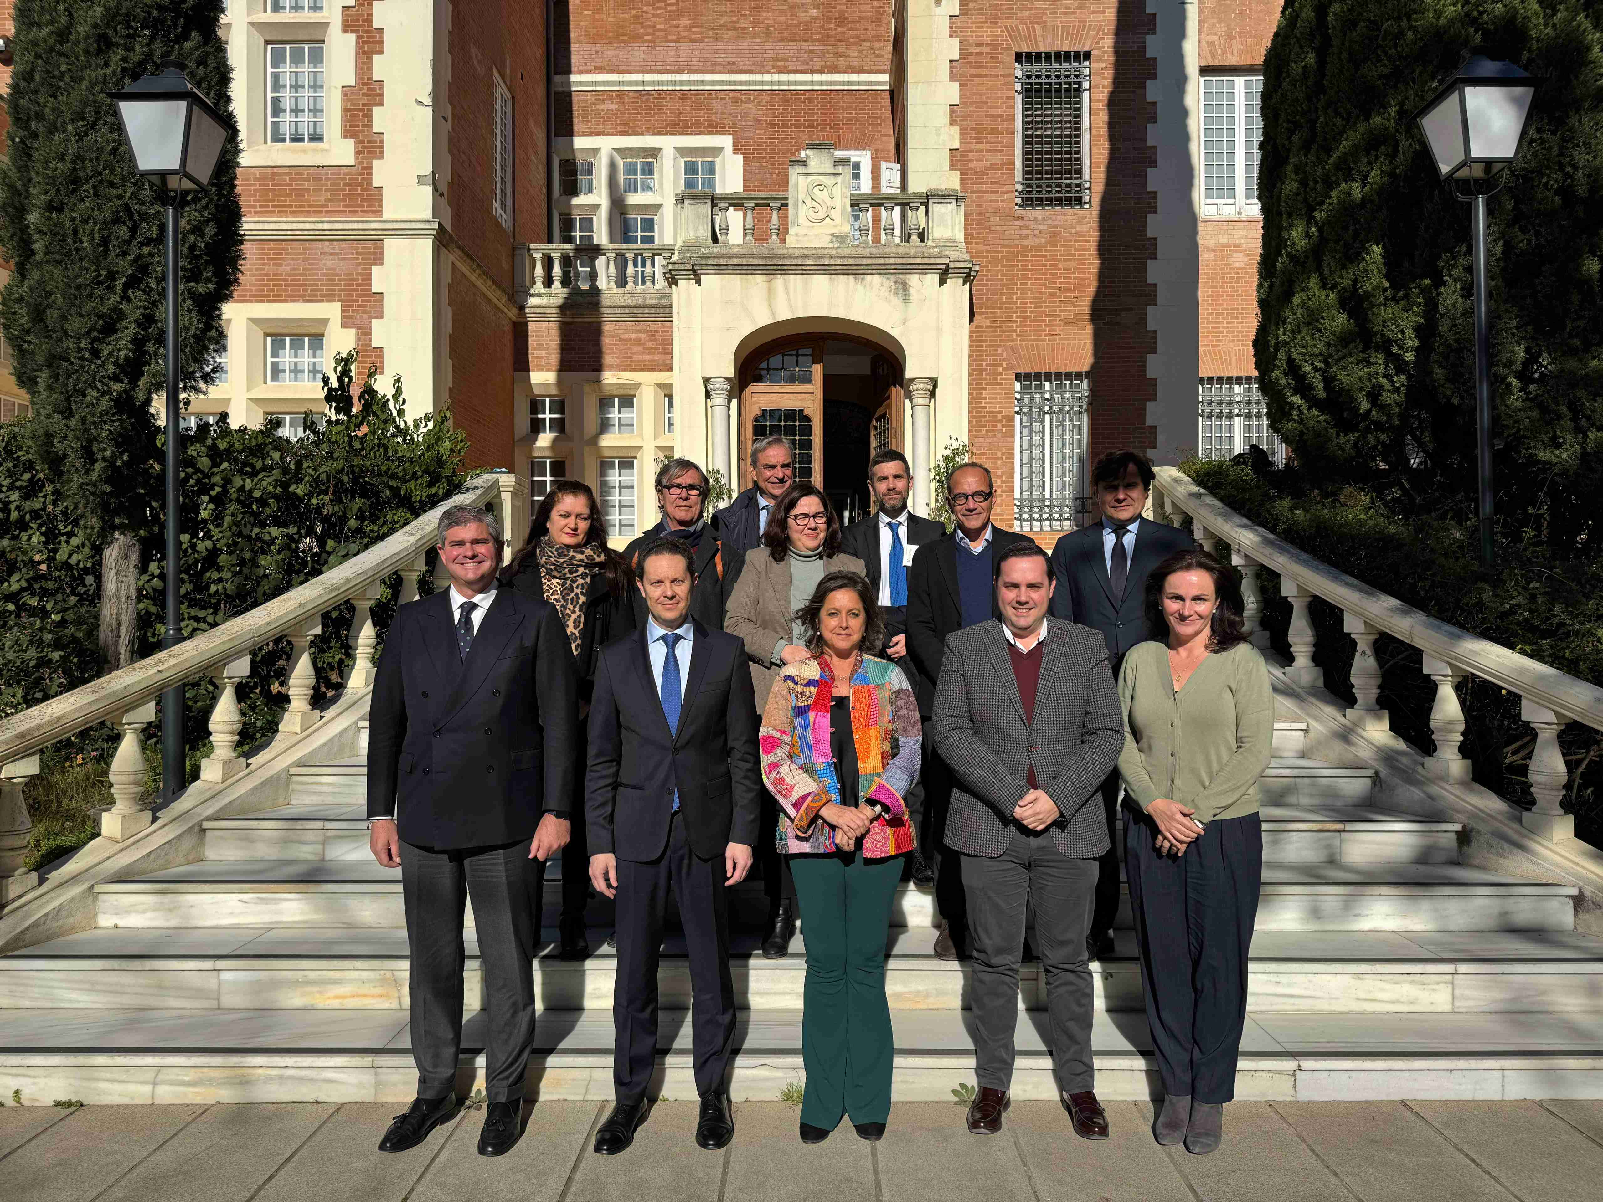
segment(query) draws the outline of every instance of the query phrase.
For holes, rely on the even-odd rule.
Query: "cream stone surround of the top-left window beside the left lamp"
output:
[[[343,88],[356,87],[356,34],[341,30],[343,10],[356,0],[329,0],[324,13],[266,13],[261,0],[228,0],[218,34],[234,67],[231,88],[240,130],[240,167],[354,167],[356,139],[341,136]],[[268,141],[268,45],[324,43],[324,141],[290,146]]]

